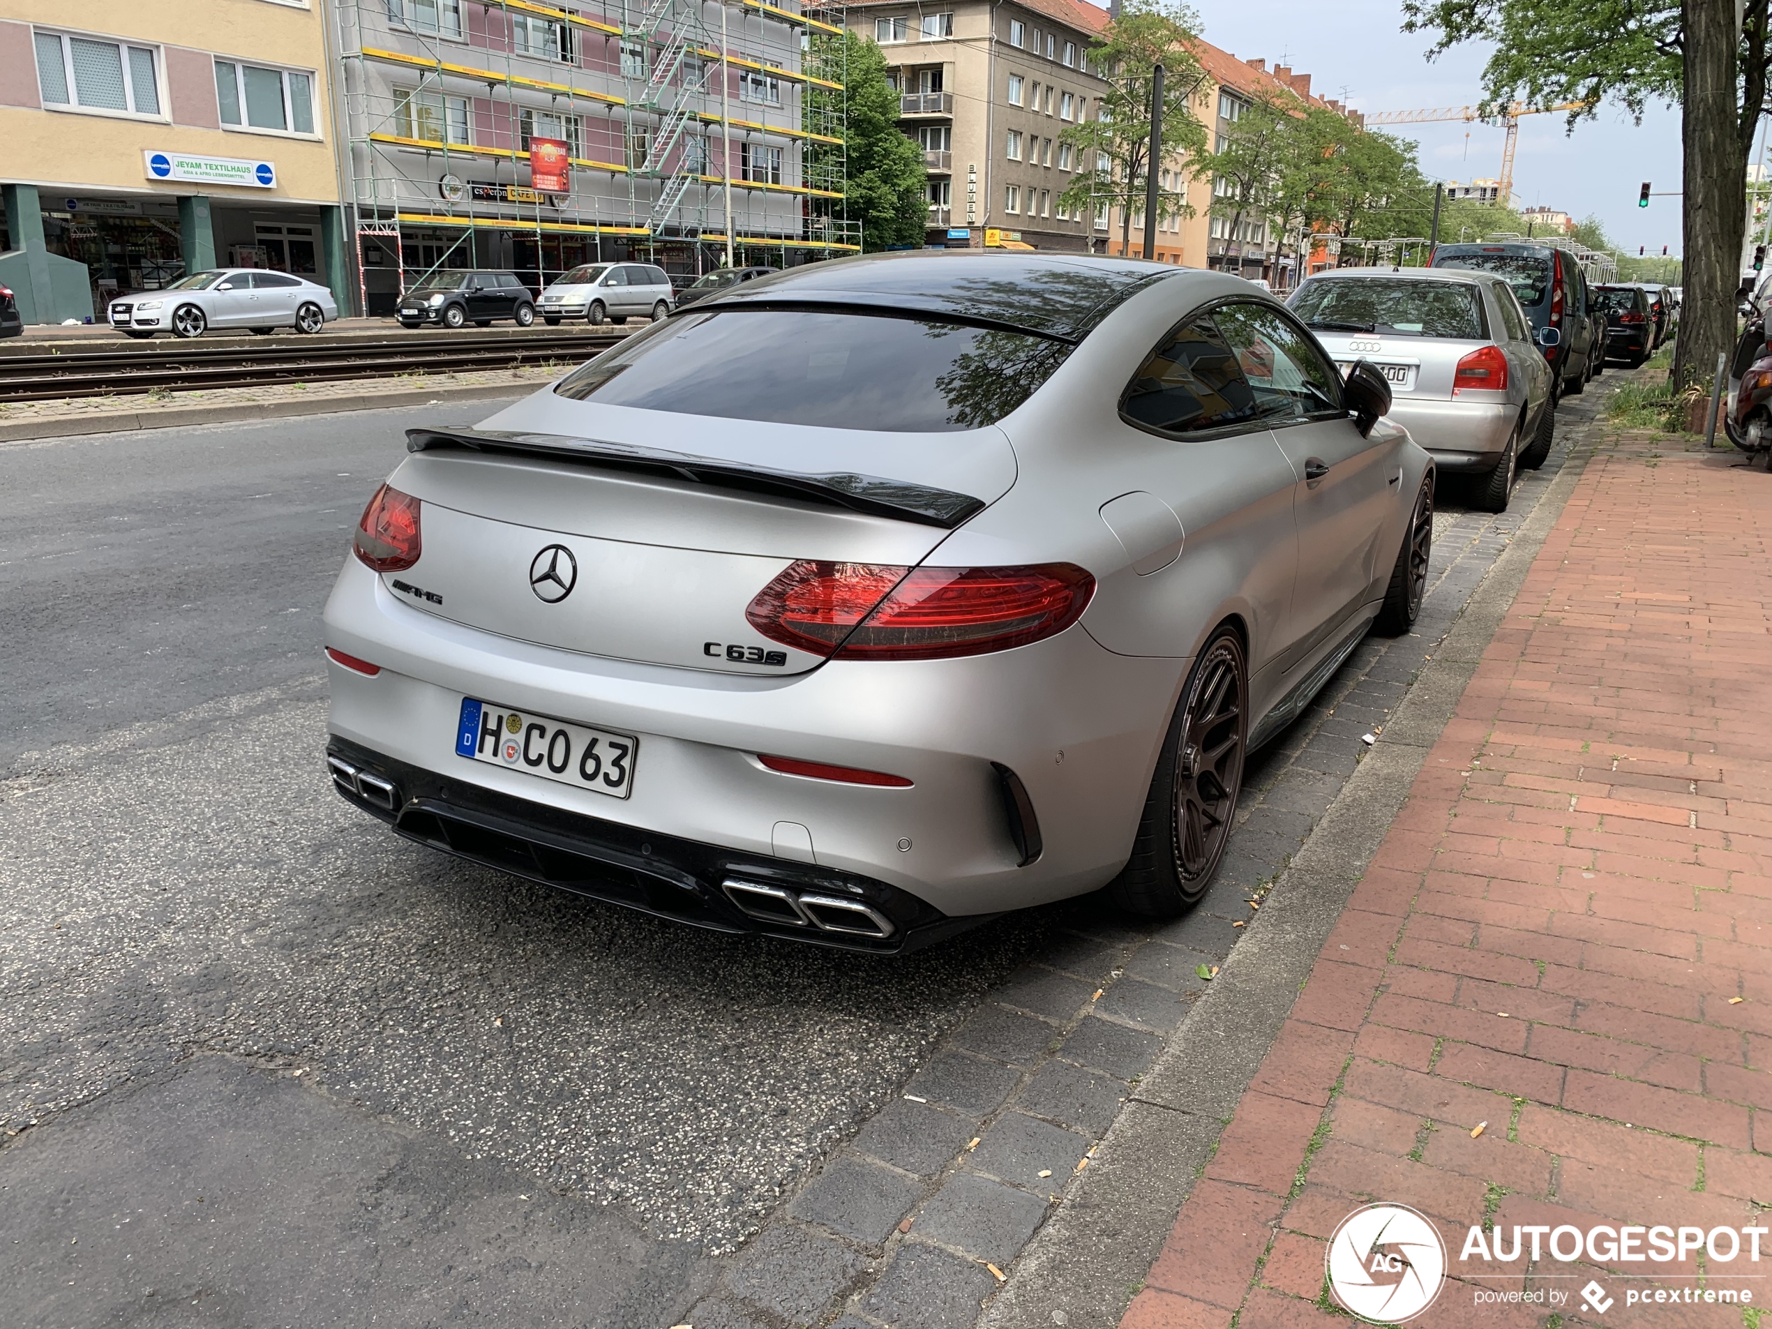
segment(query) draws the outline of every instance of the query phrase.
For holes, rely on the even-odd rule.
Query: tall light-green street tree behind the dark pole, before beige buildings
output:
[[[1161,161],[1189,159],[1207,149],[1207,128],[1194,99],[1207,83],[1189,50],[1200,39],[1198,16],[1166,0],[1127,0],[1108,25],[1090,58],[1108,76],[1108,94],[1093,120],[1069,126],[1060,142],[1077,152],[1077,174],[1058,195],[1060,207],[1088,214],[1104,206],[1120,209],[1120,248],[1132,243],[1132,213],[1145,214],[1150,163],[1150,92],[1155,66],[1162,66]],[[1182,188],[1159,197],[1162,216],[1193,216]]]

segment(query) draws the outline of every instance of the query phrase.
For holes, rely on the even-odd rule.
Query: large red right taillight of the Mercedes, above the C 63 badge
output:
[[[1095,592],[1072,563],[890,567],[799,560],[744,617],[771,641],[842,659],[941,659],[1061,633]]]

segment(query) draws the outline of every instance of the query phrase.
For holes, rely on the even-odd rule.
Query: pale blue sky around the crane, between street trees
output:
[[[1368,113],[1464,106],[1481,101],[1487,48],[1460,46],[1432,64],[1425,58],[1428,34],[1402,30],[1396,0],[1341,0],[1325,7],[1313,0],[1193,0],[1203,35],[1239,58],[1262,57],[1269,67],[1288,64],[1311,74],[1311,92],[1336,97]],[[1386,133],[1421,145],[1428,179],[1471,181],[1501,174],[1504,131],[1485,124],[1403,124]],[[1469,138],[1467,138],[1469,135]],[[1666,245],[1680,253],[1680,200],[1650,198],[1637,207],[1643,181],[1655,190],[1680,188],[1680,113],[1652,105],[1643,124],[1618,106],[1604,105],[1595,120],[1581,120],[1574,136],[1565,115],[1520,119],[1513,159],[1513,195],[1520,207],[1559,207],[1570,216],[1589,213],[1625,252]]]

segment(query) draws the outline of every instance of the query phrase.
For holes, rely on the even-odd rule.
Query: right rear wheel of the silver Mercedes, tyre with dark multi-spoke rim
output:
[[[1230,840],[1247,737],[1247,656],[1237,629],[1223,624],[1175,703],[1132,854],[1108,882],[1113,904],[1139,918],[1175,918],[1200,904]]]

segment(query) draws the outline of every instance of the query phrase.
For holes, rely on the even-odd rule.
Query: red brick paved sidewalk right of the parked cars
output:
[[[1345,1325],[1324,1247],[1370,1200],[1441,1228],[1435,1329],[1772,1306],[1768,1239],[1708,1269],[1458,1260],[1473,1223],[1772,1224],[1772,477],[1660,447],[1588,464],[1123,1329]],[[1754,1310],[1627,1308],[1694,1274]]]

